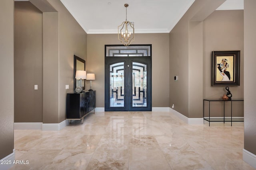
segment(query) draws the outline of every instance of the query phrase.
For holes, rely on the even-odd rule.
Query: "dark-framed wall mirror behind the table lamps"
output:
[[[85,60],[74,55],[74,91],[75,91],[76,87],[80,86],[80,80],[75,78],[76,70],[84,70],[85,71]],[[85,90],[85,80],[84,79],[82,79],[81,86],[82,86],[82,89]]]

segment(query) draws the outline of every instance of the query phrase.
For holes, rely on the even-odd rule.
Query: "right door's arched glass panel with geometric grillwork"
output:
[[[132,107],[147,107],[147,65],[132,62]]]

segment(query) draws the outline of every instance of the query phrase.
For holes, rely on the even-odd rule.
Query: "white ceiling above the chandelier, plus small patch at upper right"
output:
[[[88,34],[117,33],[126,18],[135,33],[169,33],[195,0],[60,0]],[[243,9],[243,0],[226,0],[218,10]]]

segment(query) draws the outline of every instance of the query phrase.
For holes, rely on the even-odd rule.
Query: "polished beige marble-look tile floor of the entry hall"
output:
[[[15,130],[11,170],[255,170],[244,123],[187,125],[169,112],[96,112],[60,131]]]

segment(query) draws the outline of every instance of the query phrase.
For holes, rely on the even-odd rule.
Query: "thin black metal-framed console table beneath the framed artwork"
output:
[[[204,117],[204,102],[207,101],[209,102],[209,117],[206,118]],[[232,99],[232,100],[222,100],[222,99],[204,99],[203,101],[203,117],[204,120],[209,122],[209,126],[210,126],[210,122],[212,121],[223,121],[225,123],[226,122],[231,122],[231,126],[232,126],[232,102],[237,102],[237,101],[244,101],[243,99]],[[224,102],[224,119],[223,120],[211,120],[210,119],[210,102]],[[231,119],[230,121],[225,120],[225,102],[231,102]],[[243,121],[243,120],[239,120],[239,121]]]

